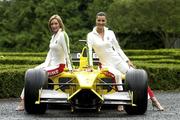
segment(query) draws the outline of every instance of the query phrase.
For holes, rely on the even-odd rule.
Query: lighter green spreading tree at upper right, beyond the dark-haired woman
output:
[[[155,33],[170,48],[180,31],[179,5],[179,0],[117,0],[108,10],[109,24],[118,33]]]

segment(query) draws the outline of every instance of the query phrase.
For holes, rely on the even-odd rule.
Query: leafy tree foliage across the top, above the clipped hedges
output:
[[[105,11],[122,48],[170,48],[180,38],[179,0],[4,0],[0,1],[0,51],[48,51],[48,20],[59,14],[71,51]]]

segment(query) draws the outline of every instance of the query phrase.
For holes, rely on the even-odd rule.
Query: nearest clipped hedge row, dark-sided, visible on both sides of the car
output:
[[[21,69],[18,69],[18,67]],[[29,68],[34,66],[29,65]],[[137,65],[139,69],[145,69],[149,76],[149,85],[156,90],[178,90],[180,89],[180,67],[168,68],[159,65]],[[22,66],[14,69],[0,71],[0,98],[19,97],[23,85],[24,74],[27,68]]]

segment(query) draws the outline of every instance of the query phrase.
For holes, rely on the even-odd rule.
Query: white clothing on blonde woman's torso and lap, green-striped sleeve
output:
[[[53,34],[49,44],[49,51],[46,60],[36,68],[44,68],[49,66],[57,66],[66,64],[69,70],[72,70],[69,50],[69,37],[65,31],[59,31]]]

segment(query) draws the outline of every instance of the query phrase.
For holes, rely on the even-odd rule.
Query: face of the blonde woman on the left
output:
[[[50,22],[50,27],[51,27],[51,31],[53,33],[57,33],[58,30],[60,29],[60,24],[58,22],[57,19],[52,19],[51,22]]]

